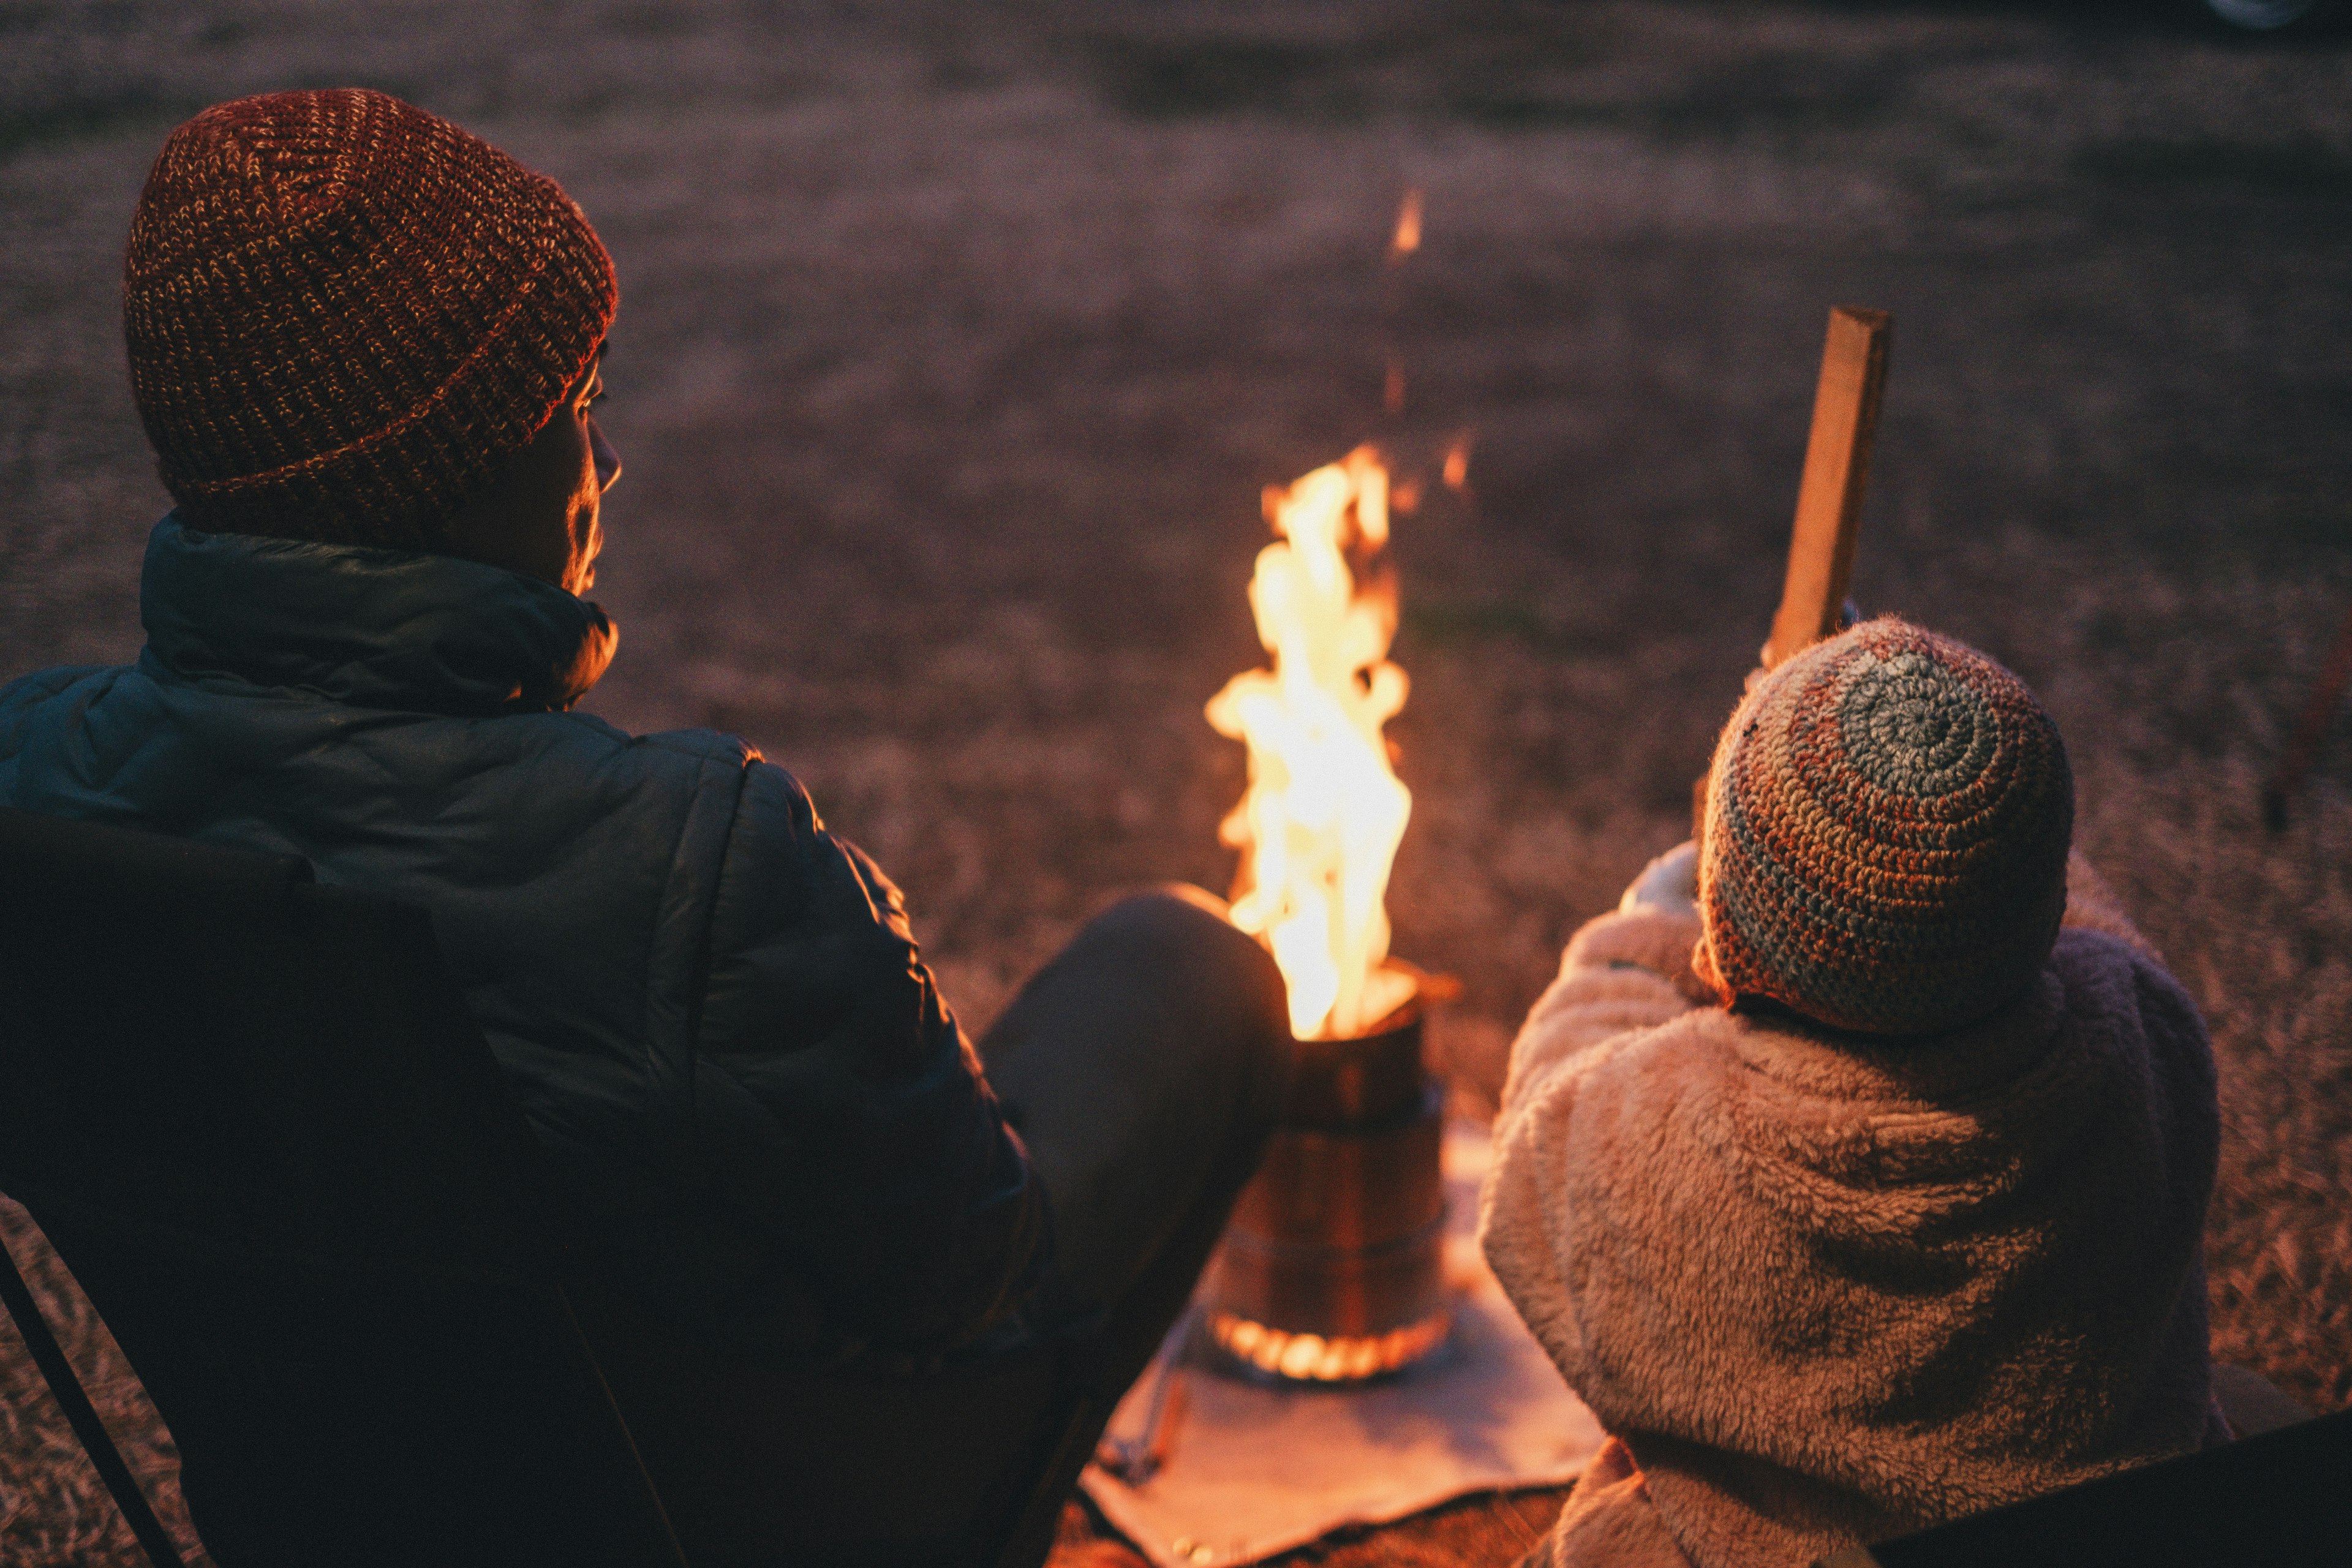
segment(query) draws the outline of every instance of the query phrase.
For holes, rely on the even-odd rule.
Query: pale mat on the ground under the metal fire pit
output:
[[[1486,1159],[1486,1128],[1446,1126],[1454,1333],[1425,1361],[1378,1382],[1317,1387],[1235,1373],[1204,1333],[1171,1335],[1110,1418],[1108,1465],[1084,1476],[1136,1549],[1160,1568],[1230,1568],[1468,1493],[1576,1479],[1602,1427],[1477,1253]]]

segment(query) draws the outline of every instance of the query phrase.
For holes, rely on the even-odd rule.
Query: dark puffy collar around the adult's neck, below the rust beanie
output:
[[[179,512],[148,534],[139,621],[141,663],[183,679],[442,715],[572,708],[619,642],[588,599],[503,567],[202,534]]]

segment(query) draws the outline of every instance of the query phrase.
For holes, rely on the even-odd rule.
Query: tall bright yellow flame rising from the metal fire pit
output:
[[[1357,569],[1388,543],[1388,468],[1371,447],[1265,491],[1279,536],[1258,552],[1249,609],[1272,670],[1235,675],[1209,724],[1249,745],[1249,790],[1218,837],[1242,851],[1232,924],[1263,940],[1298,1039],[1364,1034],[1414,994],[1388,959],[1388,867],[1414,797],[1381,726],[1404,708],[1388,663],[1397,585]],[[1355,567],[1350,567],[1350,557]]]

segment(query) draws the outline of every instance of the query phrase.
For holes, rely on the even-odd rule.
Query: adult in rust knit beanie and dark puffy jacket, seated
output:
[[[426,905],[630,1333],[743,1368],[696,1399],[920,1392],[1082,1321],[1141,1371],[1277,1114],[1282,980],[1214,898],[1148,893],[976,1053],[790,773],[572,712],[616,644],[581,595],[619,289],[555,181],[379,92],[221,103],[165,143],[122,299],[176,501],[148,642],[0,689],[0,802]],[[666,1432],[699,1561],[788,1523]]]

